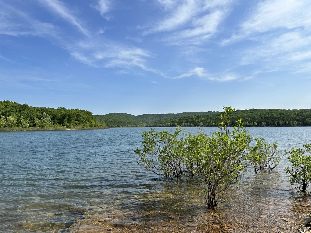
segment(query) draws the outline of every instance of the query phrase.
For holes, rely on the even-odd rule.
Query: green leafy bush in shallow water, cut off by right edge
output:
[[[286,153],[286,152],[285,152]],[[294,148],[288,152],[291,168],[285,167],[291,185],[297,184],[296,190],[306,192],[311,183],[311,144],[304,144],[302,148]]]

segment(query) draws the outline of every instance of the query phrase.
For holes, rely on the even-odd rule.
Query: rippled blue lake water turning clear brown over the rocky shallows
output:
[[[311,197],[290,186],[286,158],[274,171],[250,169],[207,209],[201,180],[156,179],[137,164],[145,130],[0,132],[0,232],[293,232],[310,220]],[[248,130],[280,149],[311,143],[311,127]]]

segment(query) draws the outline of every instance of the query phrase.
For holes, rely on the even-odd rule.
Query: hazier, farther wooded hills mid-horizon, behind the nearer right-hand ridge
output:
[[[219,112],[181,112],[163,114],[143,114],[134,116],[127,113],[109,113],[106,115],[94,115],[99,122],[104,121],[108,127],[145,127],[154,126],[156,122],[179,117],[197,116],[203,114],[219,114]]]

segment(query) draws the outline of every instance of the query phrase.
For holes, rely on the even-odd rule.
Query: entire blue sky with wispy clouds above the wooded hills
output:
[[[311,108],[310,0],[0,0],[0,100],[93,114]]]

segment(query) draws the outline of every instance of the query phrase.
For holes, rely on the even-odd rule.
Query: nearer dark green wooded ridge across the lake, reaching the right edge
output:
[[[232,113],[230,126],[242,118],[244,126],[311,126],[311,111],[284,109],[250,109],[236,110]],[[174,126],[217,126],[220,113],[197,116],[186,116],[174,119],[164,119],[153,124],[154,127]]]

